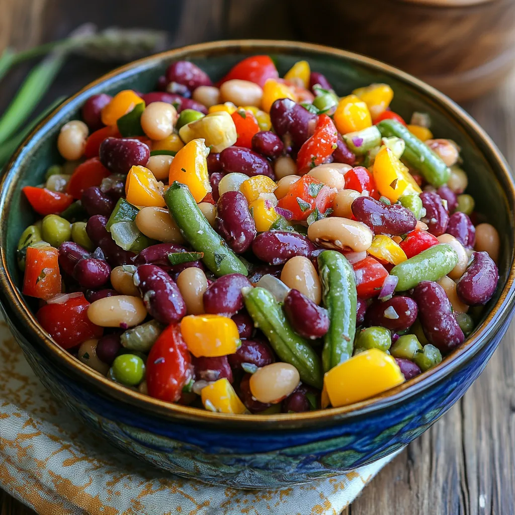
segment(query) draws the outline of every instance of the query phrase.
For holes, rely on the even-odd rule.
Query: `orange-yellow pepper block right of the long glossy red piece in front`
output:
[[[221,315],[188,315],[181,320],[181,333],[195,357],[234,354],[241,345],[236,323]]]

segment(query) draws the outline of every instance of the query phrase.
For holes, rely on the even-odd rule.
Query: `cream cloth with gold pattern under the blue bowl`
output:
[[[392,457],[277,490],[167,474],[111,447],[59,405],[0,318],[0,488],[41,515],[337,515]]]

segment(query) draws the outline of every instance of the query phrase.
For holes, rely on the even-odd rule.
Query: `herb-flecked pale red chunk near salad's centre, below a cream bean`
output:
[[[279,200],[277,205],[293,213],[294,220],[305,220],[318,209],[323,214],[333,205],[336,190],[325,186],[322,181],[304,175],[291,184],[288,193]]]

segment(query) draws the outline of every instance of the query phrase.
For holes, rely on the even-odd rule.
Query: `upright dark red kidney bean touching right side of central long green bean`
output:
[[[256,226],[243,193],[226,192],[217,200],[215,231],[238,254],[252,245]]]

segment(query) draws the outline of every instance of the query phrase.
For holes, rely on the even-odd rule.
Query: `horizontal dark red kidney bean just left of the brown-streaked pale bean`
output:
[[[294,256],[309,258],[315,245],[296,232],[266,231],[258,234],[252,242],[256,258],[270,265],[282,265]]]

